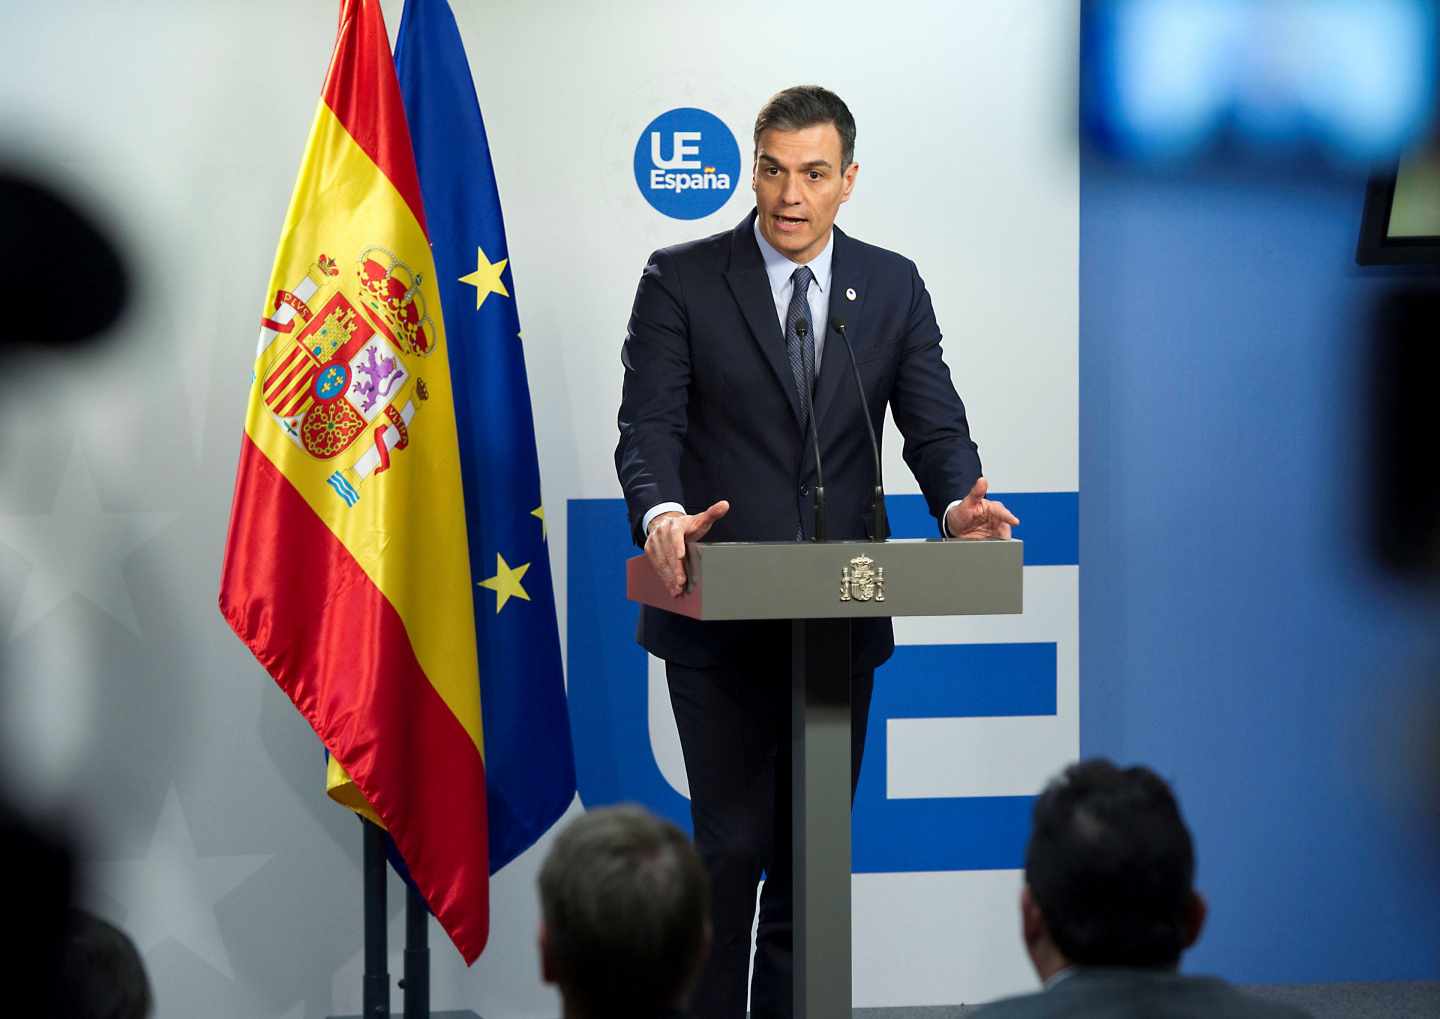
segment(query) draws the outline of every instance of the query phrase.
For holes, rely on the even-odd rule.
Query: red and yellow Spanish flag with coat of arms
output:
[[[451,351],[379,0],[343,0],[261,309],[220,612],[467,961],[485,754]]]

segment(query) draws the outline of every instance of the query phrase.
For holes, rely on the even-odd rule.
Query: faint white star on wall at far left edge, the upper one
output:
[[[10,636],[27,630],[72,594],[140,636],[124,577],[125,560],[174,518],[173,512],[105,510],[85,455],[72,449],[49,512],[0,515],[0,544],[30,563]]]

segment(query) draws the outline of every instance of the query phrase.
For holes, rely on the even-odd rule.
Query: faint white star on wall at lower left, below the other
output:
[[[120,925],[143,953],[173,938],[233,980],[215,904],[269,859],[269,853],[200,856],[171,786],[145,855],[95,864],[94,874],[99,891],[125,908]]]

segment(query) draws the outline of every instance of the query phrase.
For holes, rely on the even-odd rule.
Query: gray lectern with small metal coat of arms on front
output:
[[[850,620],[1021,612],[1021,553],[1020,541],[693,543],[680,597],[644,556],[626,563],[634,602],[793,620],[796,1019],[850,1015]]]

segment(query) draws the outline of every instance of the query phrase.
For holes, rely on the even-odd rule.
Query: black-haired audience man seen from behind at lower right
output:
[[[986,1019],[1296,1019],[1305,1012],[1181,976],[1205,900],[1169,786],[1146,767],[1071,764],[1035,800],[1020,897],[1025,948],[1044,990],[984,1009]]]

